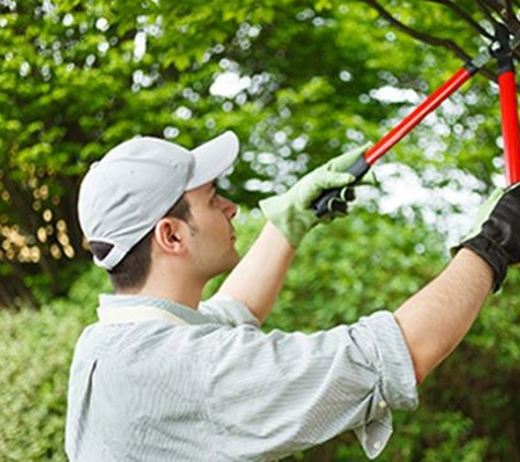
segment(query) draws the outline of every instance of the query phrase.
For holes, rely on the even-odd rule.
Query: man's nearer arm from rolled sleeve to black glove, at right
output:
[[[478,215],[483,223],[450,265],[395,312],[418,382],[457,347],[489,290],[520,261],[520,187],[494,194]]]

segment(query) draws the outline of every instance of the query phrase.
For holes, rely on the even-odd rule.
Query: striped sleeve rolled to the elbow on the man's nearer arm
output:
[[[223,459],[279,459],[349,429],[373,459],[392,434],[391,411],[417,406],[409,353],[390,312],[311,335],[250,325],[216,335],[206,397]]]

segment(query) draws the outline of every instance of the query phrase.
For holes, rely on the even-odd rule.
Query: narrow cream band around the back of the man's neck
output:
[[[188,324],[208,324],[211,320],[199,313],[197,310],[176,303],[172,300],[161,299],[157,297],[143,296],[120,296],[102,293],[100,296],[100,307],[117,310],[127,307],[153,307],[170,311],[175,316],[181,317]]]

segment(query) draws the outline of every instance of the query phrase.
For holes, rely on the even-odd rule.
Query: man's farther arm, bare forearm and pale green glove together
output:
[[[303,176],[287,193],[261,201],[268,222],[219,292],[245,303],[263,323],[275,304],[301,240],[315,224],[331,221],[331,213],[321,218],[314,215],[313,200],[323,190],[351,184],[355,178],[347,172],[348,168],[367,149],[365,146],[335,158]],[[343,199],[343,215],[351,198]]]

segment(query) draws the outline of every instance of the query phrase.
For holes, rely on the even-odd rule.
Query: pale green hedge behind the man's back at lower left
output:
[[[1,460],[66,460],[68,369],[74,338],[88,319],[73,302],[0,312]]]

